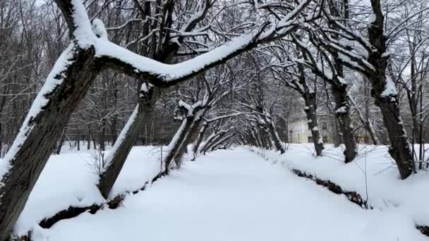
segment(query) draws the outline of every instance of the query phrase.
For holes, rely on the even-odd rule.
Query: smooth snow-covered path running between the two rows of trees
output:
[[[35,240],[428,240],[243,148],[186,163],[123,207],[37,230]]]

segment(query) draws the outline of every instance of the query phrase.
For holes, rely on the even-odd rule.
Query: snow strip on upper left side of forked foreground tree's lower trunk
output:
[[[73,50],[73,44],[70,44],[61,54],[61,56],[59,56],[58,60],[54,64],[54,67],[47,76],[42,89],[40,89],[39,94],[37,94],[37,97],[33,101],[32,106],[25,117],[23,125],[21,125],[20,131],[13,141],[11,149],[9,149],[9,151],[6,153],[4,159],[0,159],[0,180],[10,170],[11,161],[15,158],[16,154],[20,150],[21,145],[27,139],[28,134],[32,130],[32,120],[36,118],[37,115],[42,113],[43,107],[48,104],[48,99],[45,96],[52,93],[55,87],[61,85],[63,82],[63,78],[65,77],[64,70],[66,70],[66,68],[72,63],[72,61],[69,61],[69,59],[73,57]],[[0,183],[0,187],[2,185],[4,184]]]

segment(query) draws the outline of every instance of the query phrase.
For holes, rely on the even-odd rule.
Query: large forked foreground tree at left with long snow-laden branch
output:
[[[284,8],[286,14],[275,23],[259,23],[221,47],[169,65],[97,37],[80,0],[55,2],[71,44],[56,61],[1,164],[0,240],[8,239],[73,109],[102,70],[111,68],[157,87],[176,85],[313,20],[313,13],[303,11],[310,0],[303,0],[293,8]]]

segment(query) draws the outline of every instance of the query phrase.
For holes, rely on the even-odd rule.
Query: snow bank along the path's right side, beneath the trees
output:
[[[322,180],[330,180],[344,190],[358,192],[383,214],[395,215],[413,225],[429,225],[429,206],[422,205],[423,200],[429,199],[429,194],[422,192],[429,188],[428,173],[421,171],[401,180],[386,146],[361,145],[357,158],[347,164],[341,158],[343,149],[330,144],[325,145],[323,156],[317,158],[312,155],[314,147],[310,144],[289,144],[283,155],[253,149],[281,168],[305,171]],[[399,240],[413,238],[402,236]]]

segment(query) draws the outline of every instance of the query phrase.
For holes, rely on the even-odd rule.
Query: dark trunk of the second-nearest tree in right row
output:
[[[344,162],[353,161],[358,154],[356,152],[356,140],[353,128],[351,128],[350,105],[347,99],[347,85],[332,85],[332,93],[335,101],[335,116],[337,117],[339,129],[342,132],[342,140],[346,149],[344,150]]]

